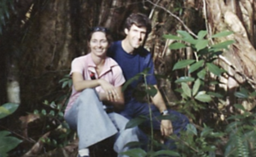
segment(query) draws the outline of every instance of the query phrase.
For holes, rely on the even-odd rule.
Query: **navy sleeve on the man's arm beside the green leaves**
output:
[[[151,55],[147,55],[147,57],[145,58],[145,65],[146,67],[145,68],[149,68],[149,72],[148,72],[148,76],[146,77],[147,78],[147,84],[149,85],[156,85],[157,84],[157,80],[156,80],[156,77],[154,75],[154,63],[153,63],[153,60],[152,60],[152,57]]]

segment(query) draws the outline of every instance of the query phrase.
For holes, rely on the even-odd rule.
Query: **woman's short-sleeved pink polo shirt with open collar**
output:
[[[91,80],[90,74],[94,74],[96,79],[104,79],[115,87],[121,86],[125,83],[125,78],[120,66],[112,59],[107,57],[101,74],[98,76],[96,72],[96,65],[93,62],[91,54],[75,58],[71,64],[70,76],[73,72],[79,72],[83,75],[84,80]],[[101,86],[95,88],[97,92],[104,92]],[[71,108],[81,92],[77,92],[72,86],[72,94],[65,109],[65,113]]]

